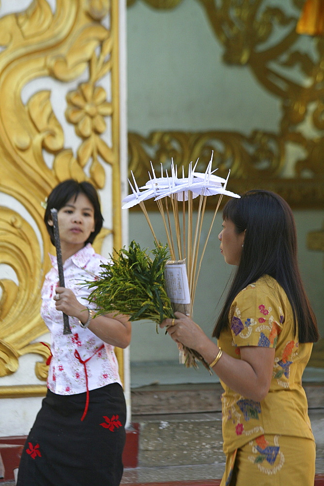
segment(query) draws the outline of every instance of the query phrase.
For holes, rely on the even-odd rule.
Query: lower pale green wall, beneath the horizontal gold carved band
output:
[[[211,223],[209,212],[204,217],[204,229],[200,247],[203,247]],[[320,211],[294,211],[297,235],[299,265],[309,300],[316,313],[322,335],[324,335],[324,271],[323,254],[308,250],[306,247],[307,233],[322,226],[323,214]],[[159,213],[150,213],[150,220],[158,239],[166,243],[162,218]],[[213,324],[220,307],[217,306],[222,292],[227,284],[234,267],[225,263],[219,250],[217,235],[221,231],[222,212],[217,213],[211,237],[203,260],[198,282],[196,299],[194,302],[194,320],[201,328],[211,335]],[[142,248],[153,248],[153,237],[142,212],[130,215],[130,240],[135,240]],[[132,340],[130,346],[130,360],[163,361],[177,360],[178,350],[169,336],[164,332],[156,334],[155,324],[151,322],[134,322],[132,325]]]

